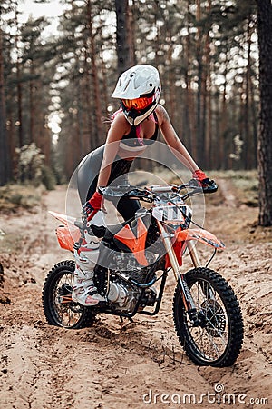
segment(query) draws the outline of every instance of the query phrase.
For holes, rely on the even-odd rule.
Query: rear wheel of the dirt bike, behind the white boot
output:
[[[65,260],[55,264],[45,279],[43,307],[48,324],[71,329],[93,324],[92,309],[72,301],[73,273],[73,260]]]

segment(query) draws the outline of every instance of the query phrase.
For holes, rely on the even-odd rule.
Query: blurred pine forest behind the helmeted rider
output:
[[[160,104],[201,168],[257,168],[257,3],[269,1],[60,0],[57,35],[45,17],[21,23],[19,3],[0,5],[0,185],[67,182],[104,143],[117,77],[135,64],[159,69]]]

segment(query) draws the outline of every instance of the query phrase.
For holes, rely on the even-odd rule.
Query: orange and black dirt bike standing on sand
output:
[[[126,195],[150,204],[136,212],[133,219],[109,228],[51,212],[63,223],[56,229],[63,248],[73,252],[86,232],[100,240],[94,271],[97,288],[106,303],[100,307],[74,303],[75,264],[73,260],[63,261],[53,266],[44,282],[43,305],[48,324],[77,329],[92,325],[97,314],[130,320],[135,314],[158,314],[167,276],[172,271],[177,282],[173,321],[186,354],[199,365],[234,364],[244,330],[238,299],[227,281],[208,268],[209,262],[200,264],[195,244],[213,247],[209,261],[225,245],[200,226],[189,228],[194,222],[185,203],[193,195],[216,190],[214,182],[202,190],[194,180],[180,186],[105,187],[105,199]],[[182,273],[186,249],[194,268]]]

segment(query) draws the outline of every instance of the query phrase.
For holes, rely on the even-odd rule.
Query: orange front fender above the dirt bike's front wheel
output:
[[[178,242],[188,242],[189,240],[196,240],[202,244],[207,244],[210,247],[223,250],[226,246],[214,234],[204,229],[187,229],[177,232]]]

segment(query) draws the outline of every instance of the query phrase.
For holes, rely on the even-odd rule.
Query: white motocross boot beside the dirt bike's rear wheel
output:
[[[93,282],[93,271],[83,271],[76,266],[73,278],[72,300],[84,306],[101,305],[105,298],[98,293]]]

